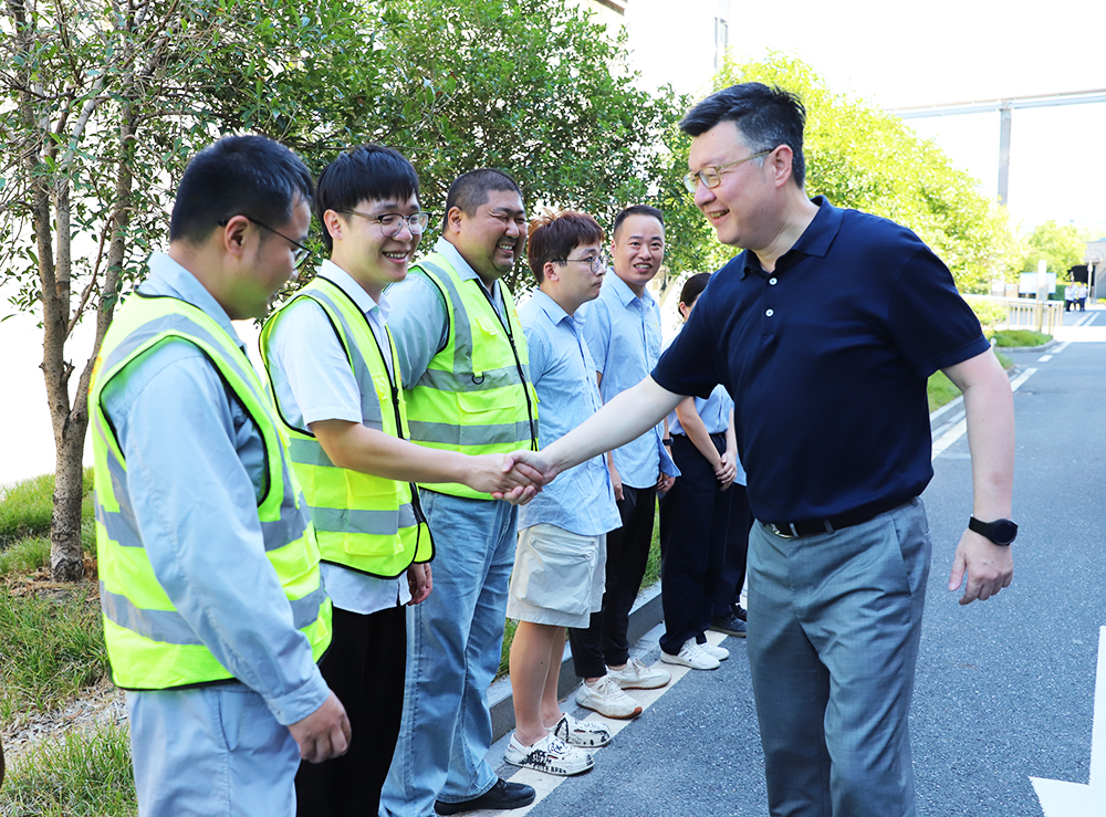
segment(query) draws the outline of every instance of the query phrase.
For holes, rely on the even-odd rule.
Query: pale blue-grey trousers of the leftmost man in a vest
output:
[[[241,683],[127,692],[142,817],[292,817],[300,747]]]

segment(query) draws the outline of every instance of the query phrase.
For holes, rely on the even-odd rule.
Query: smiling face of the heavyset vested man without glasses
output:
[[[526,211],[514,190],[489,190],[471,216],[459,207],[447,213],[446,239],[486,284],[511,271],[526,242]]]

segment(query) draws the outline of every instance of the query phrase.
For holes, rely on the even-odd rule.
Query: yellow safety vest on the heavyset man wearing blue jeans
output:
[[[411,268],[442,294],[448,337],[426,371],[407,389],[411,439],[420,446],[466,454],[538,450],[538,395],[530,381],[530,354],[511,292],[495,281],[507,321],[476,280],[463,281],[441,253]],[[455,482],[422,484],[453,496],[490,500],[491,494]]]

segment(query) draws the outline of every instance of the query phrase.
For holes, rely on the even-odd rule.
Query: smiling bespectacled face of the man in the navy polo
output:
[[[751,149],[732,122],[718,125],[691,140],[688,168],[698,172],[758,153]],[[708,188],[697,181],[695,203],[707,217],[723,244],[763,249],[778,230],[772,229],[776,213],[778,185],[771,172],[773,154],[723,168],[718,187]]]

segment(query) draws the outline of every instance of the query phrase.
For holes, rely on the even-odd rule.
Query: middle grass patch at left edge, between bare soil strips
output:
[[[76,587],[59,598],[0,586],[0,721],[49,710],[107,672],[97,598]]]

